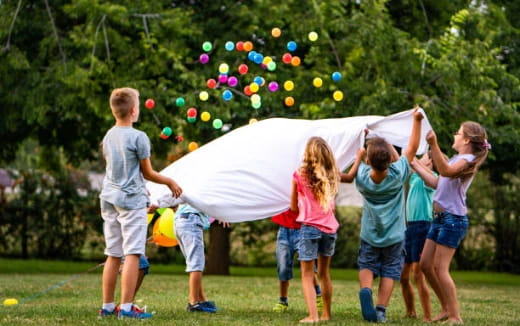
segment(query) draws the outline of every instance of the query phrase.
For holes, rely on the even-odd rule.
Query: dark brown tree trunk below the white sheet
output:
[[[209,248],[206,261],[205,274],[229,275],[230,228],[224,228],[218,222],[209,229]]]

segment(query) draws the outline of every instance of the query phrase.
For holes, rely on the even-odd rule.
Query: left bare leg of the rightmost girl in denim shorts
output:
[[[440,321],[445,320],[448,317],[448,310],[446,307],[446,300],[444,299],[443,290],[441,288],[441,285],[439,283],[439,279],[437,278],[437,274],[435,272],[435,252],[437,249],[437,244],[430,240],[426,239],[426,242],[424,243],[424,248],[421,253],[421,261],[419,262],[419,265],[421,267],[422,272],[424,273],[424,276],[426,276],[426,279],[428,280],[428,283],[430,283],[430,286],[433,289],[433,292],[435,292],[435,295],[437,296],[437,299],[439,299],[439,303],[441,304],[441,312],[432,319],[432,321]]]

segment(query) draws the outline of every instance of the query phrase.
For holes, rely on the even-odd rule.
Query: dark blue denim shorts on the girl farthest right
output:
[[[469,220],[467,216],[454,215],[448,212],[435,213],[427,239],[435,243],[458,248],[468,232]]]

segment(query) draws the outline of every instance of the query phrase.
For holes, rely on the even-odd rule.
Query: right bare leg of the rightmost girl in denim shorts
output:
[[[450,263],[454,254],[455,248],[437,245],[435,252],[435,272],[439,280],[439,285],[443,289],[448,311],[448,321],[458,324],[462,323],[462,318],[460,317],[459,303],[457,301],[457,288],[450,275]]]

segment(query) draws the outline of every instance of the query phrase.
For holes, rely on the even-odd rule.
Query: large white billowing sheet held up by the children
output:
[[[424,114],[424,112],[423,112]],[[331,146],[340,170],[345,170],[363,146],[364,130],[405,147],[413,110],[391,116],[358,116],[325,120],[266,119],[235,129],[175,161],[160,173],[183,189],[181,198],[210,216],[226,222],[271,217],[288,209],[292,174],[300,166],[307,140],[323,137]],[[418,153],[431,130],[423,119]],[[164,204],[171,192],[147,183],[152,203]]]

